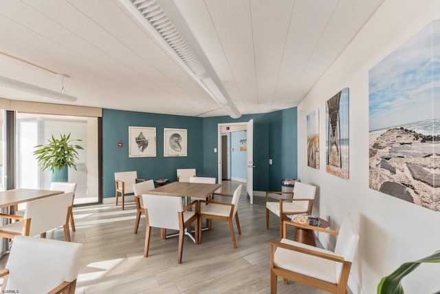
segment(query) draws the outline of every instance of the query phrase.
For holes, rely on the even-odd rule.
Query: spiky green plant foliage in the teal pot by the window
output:
[[[76,169],[75,160],[78,159],[78,150],[84,149],[80,145],[72,144],[74,141],[82,141],[80,139],[71,140],[70,133],[68,135],[60,135],[59,139],[48,139],[47,145],[36,145],[34,148],[38,148],[34,151],[36,159],[39,160],[41,169],[50,169],[54,172],[55,169],[63,169],[65,165],[67,167],[73,167]]]

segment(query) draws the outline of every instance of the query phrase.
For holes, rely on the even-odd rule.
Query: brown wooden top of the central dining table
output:
[[[168,185],[148,191],[151,194],[203,198],[214,193],[221,184],[199,182],[171,182]]]

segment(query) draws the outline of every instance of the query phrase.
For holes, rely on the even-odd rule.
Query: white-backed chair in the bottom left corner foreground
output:
[[[10,251],[1,293],[74,294],[83,244],[17,236]]]

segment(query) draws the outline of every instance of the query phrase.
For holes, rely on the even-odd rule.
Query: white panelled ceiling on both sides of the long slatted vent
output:
[[[382,1],[173,2],[241,114],[256,114],[298,105]],[[0,52],[0,76],[60,91],[56,73],[69,75],[72,105],[225,115],[119,0],[1,0]]]

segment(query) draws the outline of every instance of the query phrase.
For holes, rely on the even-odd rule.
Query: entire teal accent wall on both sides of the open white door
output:
[[[103,197],[115,195],[115,171],[137,171],[139,178],[176,180],[176,169],[195,168],[197,176],[217,178],[217,125],[254,120],[254,190],[278,191],[283,178],[297,178],[296,107],[268,114],[197,118],[122,110],[102,110]],[[129,158],[129,127],[156,127],[156,157]],[[164,128],[188,130],[188,156],[164,157]],[[123,146],[118,147],[122,141]],[[272,158],[273,165],[269,165]]]

